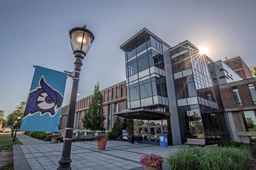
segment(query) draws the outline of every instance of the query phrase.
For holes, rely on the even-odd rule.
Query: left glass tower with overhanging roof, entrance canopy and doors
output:
[[[125,52],[129,110],[116,115],[134,119],[138,143],[159,145],[158,134],[166,133],[170,145],[180,145],[170,45],[144,28],[120,48]]]

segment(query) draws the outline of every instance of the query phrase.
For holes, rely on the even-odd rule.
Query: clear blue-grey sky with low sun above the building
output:
[[[33,65],[74,69],[68,30],[87,25],[95,41],[84,59],[78,99],[94,84],[107,88],[125,80],[119,46],[143,27],[174,46],[188,39],[208,47],[214,61],[240,56],[256,64],[256,0],[1,0],[0,109],[10,114],[27,100]],[[69,103],[68,78],[64,105]]]

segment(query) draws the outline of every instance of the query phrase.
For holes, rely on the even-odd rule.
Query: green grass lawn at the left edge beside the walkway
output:
[[[10,135],[0,135],[0,151],[12,151],[12,145],[21,144],[17,137],[14,143],[12,143],[12,139]]]

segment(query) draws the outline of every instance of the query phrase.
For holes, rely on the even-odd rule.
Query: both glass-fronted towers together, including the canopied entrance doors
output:
[[[199,55],[189,41],[170,47],[146,28],[120,48],[125,52],[128,111],[116,115],[134,119],[138,143],[159,145],[158,133],[168,134],[170,145],[188,138],[206,139],[206,144],[230,140],[211,59]]]

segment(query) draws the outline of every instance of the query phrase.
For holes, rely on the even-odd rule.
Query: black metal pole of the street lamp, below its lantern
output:
[[[73,85],[71,90],[71,97],[69,103],[69,111],[68,111],[68,122],[66,129],[66,137],[64,139],[63,148],[62,148],[62,156],[58,161],[59,167],[57,170],[71,170],[70,163],[72,162],[70,158],[71,152],[71,144],[72,144],[72,136],[73,136],[73,127],[74,127],[74,117],[75,117],[75,109],[76,109],[76,98],[78,91],[78,83],[81,67],[83,65],[82,60],[84,59],[84,54],[77,52],[75,55],[75,76],[73,77]]]

